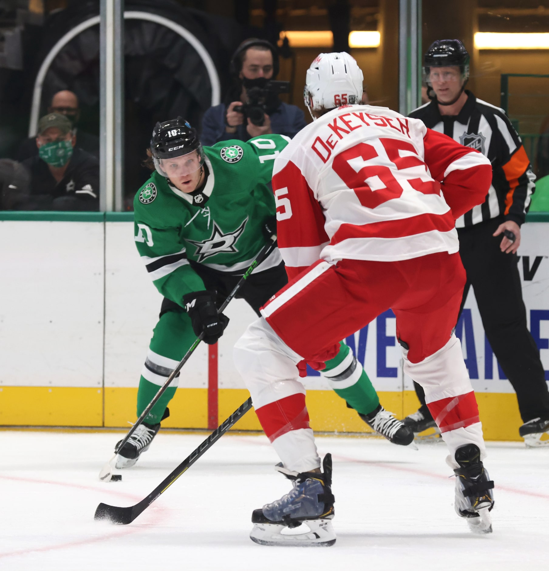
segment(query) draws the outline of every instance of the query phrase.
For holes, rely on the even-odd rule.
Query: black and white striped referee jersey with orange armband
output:
[[[505,215],[519,226],[524,222],[535,189],[535,175],[522,140],[499,107],[465,91],[467,101],[459,115],[445,116],[433,100],[410,113],[426,127],[452,137],[487,156],[492,163],[492,184],[486,200],[456,220],[456,228]]]

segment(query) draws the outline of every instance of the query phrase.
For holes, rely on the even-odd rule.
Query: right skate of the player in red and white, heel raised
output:
[[[475,533],[491,533],[490,510],[494,507],[494,482],[481,461],[481,451],[476,444],[465,444],[456,451],[459,468],[456,474],[456,512],[467,518],[467,524]]]

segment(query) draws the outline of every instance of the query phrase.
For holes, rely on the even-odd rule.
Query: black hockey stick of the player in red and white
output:
[[[213,432],[204,440],[204,442],[185,458],[184,461],[164,480],[160,482],[152,490],[152,492],[143,500],[135,505],[127,508],[119,508],[115,505],[99,504],[95,510],[95,520],[110,520],[113,524],[131,524],[140,513],[152,504],[161,494],[163,494],[178,477],[182,476],[203,454],[208,448],[223,436],[225,432],[233,426],[233,424],[251,408],[251,397],[245,403],[241,404],[231,416],[221,423]]]

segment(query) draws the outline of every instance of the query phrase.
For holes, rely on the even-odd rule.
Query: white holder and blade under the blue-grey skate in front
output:
[[[298,528],[280,524],[255,524],[250,539],[259,545],[329,547],[336,542],[331,520],[308,520]]]

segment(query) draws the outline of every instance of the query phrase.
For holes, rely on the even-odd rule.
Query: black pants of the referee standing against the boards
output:
[[[492,236],[502,222],[499,217],[458,228],[459,254],[467,273],[459,315],[473,286],[486,337],[517,393],[523,422],[549,419],[549,392],[538,347],[527,328],[518,257],[499,250],[502,235]],[[414,386],[420,410],[429,417],[425,393],[417,383]]]

